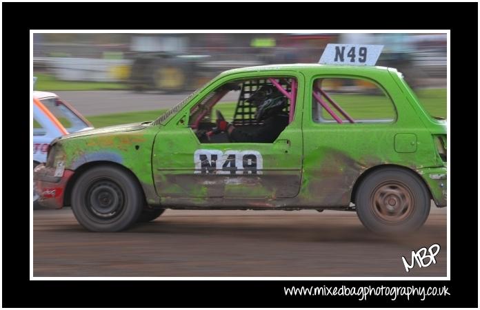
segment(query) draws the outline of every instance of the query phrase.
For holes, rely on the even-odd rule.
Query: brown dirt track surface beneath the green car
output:
[[[34,276],[446,276],[446,208],[413,236],[370,234],[354,212],[167,210],[121,233],[92,233],[70,208],[34,211]],[[406,273],[401,256],[441,245]],[[428,262],[428,259],[426,260]]]

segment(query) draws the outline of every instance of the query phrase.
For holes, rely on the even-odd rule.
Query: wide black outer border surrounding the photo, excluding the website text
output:
[[[461,128],[451,137],[454,156],[452,179],[462,178],[451,187],[454,203],[451,216],[451,280],[450,281],[39,281],[29,280],[29,252],[26,247],[29,230],[26,224],[27,208],[17,207],[19,187],[26,187],[24,174],[16,171],[19,155],[28,156],[25,138],[30,134],[28,105],[10,105],[15,99],[26,99],[26,85],[31,77],[26,74],[29,59],[27,36],[30,29],[214,29],[223,26],[219,14],[228,10],[229,20],[253,18],[254,22],[240,23],[247,27],[266,28],[270,24],[279,28],[279,17],[288,12],[294,17],[294,28],[362,28],[362,29],[450,29],[451,30],[451,88],[452,113],[449,125],[456,118],[465,117],[468,105],[471,112],[471,90],[477,90],[477,10],[478,3],[2,3],[3,9],[3,307],[477,307],[477,212],[468,193],[476,193],[476,183],[471,176],[457,171],[461,146],[472,157],[472,147],[477,143],[459,143],[469,138],[474,122],[458,121]],[[186,10],[188,6],[188,10]],[[477,9],[477,10],[476,10]],[[169,19],[161,19],[161,12],[168,11]],[[160,12],[160,13],[159,13]],[[335,12],[337,14],[321,14]],[[458,15],[461,21],[449,19]],[[121,17],[121,18],[116,18]],[[128,17],[128,18],[125,18]],[[321,17],[321,18],[319,18]],[[121,23],[119,23],[121,21]],[[172,22],[177,21],[177,22]],[[271,21],[275,21],[272,23]],[[237,24],[235,24],[237,25]],[[228,28],[234,26],[229,24]],[[474,42],[472,42],[474,41]],[[12,61],[14,59],[14,61]],[[472,61],[473,60],[473,61]],[[27,76],[26,76],[27,75]],[[26,78],[30,79],[27,80]],[[17,95],[23,94],[23,95]],[[458,112],[457,112],[458,111]],[[458,126],[458,125],[456,125]],[[18,129],[21,127],[22,134]],[[476,127],[476,126],[472,126]],[[453,127],[452,127],[453,128]],[[463,135],[461,133],[463,132]],[[468,133],[468,134],[466,134]],[[461,137],[463,136],[463,137]],[[472,145],[473,144],[473,145]],[[465,155],[468,154],[468,155]],[[26,163],[28,158],[23,158]],[[28,159],[29,161],[29,159]],[[465,162],[466,168],[470,162]],[[11,166],[12,169],[8,169]],[[21,167],[27,165],[22,164]],[[457,168],[459,167],[459,168]],[[468,169],[469,171],[470,169]],[[27,173],[27,172],[26,172]],[[461,183],[461,185],[460,185]],[[458,184],[458,185],[457,185]],[[472,188],[470,188],[472,187]],[[474,196],[474,195],[473,195]],[[469,200],[463,201],[463,198]],[[27,200],[28,196],[21,196]],[[19,216],[19,213],[22,216]],[[466,244],[466,242],[468,243]],[[478,278],[477,278],[478,280]],[[369,298],[359,301],[356,297],[285,296],[283,287],[296,285],[310,287],[330,286],[437,286],[449,287],[450,296],[443,298],[418,298],[410,300]],[[101,287],[105,296],[97,299],[89,291]],[[180,292],[182,295],[177,295]]]

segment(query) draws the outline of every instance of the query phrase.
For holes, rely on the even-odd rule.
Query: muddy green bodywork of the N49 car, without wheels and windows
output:
[[[192,106],[229,81],[268,76],[292,76],[298,81],[292,122],[274,143],[199,142],[188,126]],[[392,101],[396,118],[388,123],[315,123],[312,85],[315,79],[332,76],[372,81]],[[392,68],[270,65],[223,72],[157,121],[58,138],[35,178],[41,201],[52,207],[70,205],[70,194],[83,172],[109,164],[138,180],[150,207],[351,209],[361,180],[376,169],[394,166],[417,175],[430,198],[442,207],[447,164],[439,154],[439,141],[446,148],[446,135],[446,121],[430,116]],[[194,154],[200,149],[219,156],[253,152],[261,154],[262,164],[256,173],[219,173],[224,167],[206,170],[195,163]],[[65,172],[54,176],[59,164]],[[59,190],[42,195],[47,189]]]

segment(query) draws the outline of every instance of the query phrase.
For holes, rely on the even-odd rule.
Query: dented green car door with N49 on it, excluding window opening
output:
[[[263,72],[266,78],[268,72]],[[303,139],[303,75],[271,72],[297,81],[295,108],[289,125],[273,143],[201,143],[187,124],[190,108],[221,83],[213,83],[177,117],[161,128],[153,152],[152,169],[157,193],[162,197],[186,198],[290,198],[301,185]],[[256,78],[250,76],[249,78]]]

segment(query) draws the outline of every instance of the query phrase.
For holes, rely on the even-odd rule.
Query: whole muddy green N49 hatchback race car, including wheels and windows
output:
[[[258,117],[265,89],[285,125]],[[156,121],[57,138],[34,180],[92,231],[165,209],[335,209],[396,234],[446,206],[446,141],[395,69],[268,65],[223,72]]]

